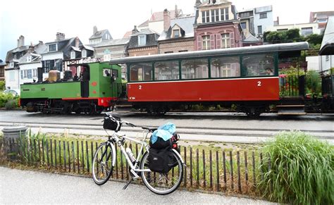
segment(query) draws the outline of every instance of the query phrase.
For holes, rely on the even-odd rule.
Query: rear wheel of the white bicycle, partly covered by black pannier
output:
[[[146,151],[140,162],[140,169],[149,169],[149,152]],[[175,166],[168,173],[142,172],[144,185],[156,194],[171,194],[178,189],[183,180],[183,163],[173,152]]]

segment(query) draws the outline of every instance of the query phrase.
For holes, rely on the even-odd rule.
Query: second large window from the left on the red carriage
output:
[[[178,80],[178,61],[166,61],[154,63],[154,80]]]

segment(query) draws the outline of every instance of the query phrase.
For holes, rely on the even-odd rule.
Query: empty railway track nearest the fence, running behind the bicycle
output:
[[[106,132],[97,124],[71,124],[68,123],[11,123],[0,121],[0,129],[6,126],[26,125],[33,132],[69,133],[76,135],[105,136]],[[140,126],[140,125],[138,125]],[[122,132],[132,137],[141,137],[141,128],[123,127]],[[189,141],[209,142],[235,142],[235,143],[261,143],[270,139],[279,132],[290,131],[280,129],[248,129],[248,128],[205,128],[205,127],[180,127],[178,133],[182,139]],[[319,139],[334,143],[334,130],[300,130],[314,135]],[[111,131],[109,133],[112,133]]]

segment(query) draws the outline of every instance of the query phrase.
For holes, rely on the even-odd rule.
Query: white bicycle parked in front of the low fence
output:
[[[112,121],[110,125],[105,125],[106,120]],[[112,125],[111,125],[112,124]],[[125,135],[120,135],[118,131],[122,125],[128,125],[132,128],[136,125],[129,123],[128,121],[120,120],[117,116],[112,116],[111,113],[106,113],[104,116],[104,128],[105,130],[113,130],[113,134],[109,135],[106,142],[102,142],[97,151],[95,151],[94,159],[92,161],[92,175],[93,180],[97,185],[104,185],[113,173],[113,167],[116,164],[116,148],[120,147],[121,154],[125,156],[125,159],[129,166],[129,173],[131,179],[123,187],[125,190],[132,180],[142,178],[144,185],[156,194],[171,194],[178,189],[183,180],[183,168],[185,163],[177,150],[173,150],[173,157],[175,157],[174,167],[168,173],[155,173],[149,169],[149,145],[146,140],[148,135],[151,135],[157,128],[141,127],[143,129],[144,139],[137,140]],[[125,140],[128,139],[136,144],[140,144],[140,151],[138,151],[137,157],[132,154],[132,151],[124,148]],[[142,151],[146,149],[144,154]],[[140,156],[142,156],[140,158]]]

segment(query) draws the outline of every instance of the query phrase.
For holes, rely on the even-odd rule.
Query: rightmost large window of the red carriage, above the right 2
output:
[[[274,75],[272,54],[249,55],[242,57],[244,76]]]

